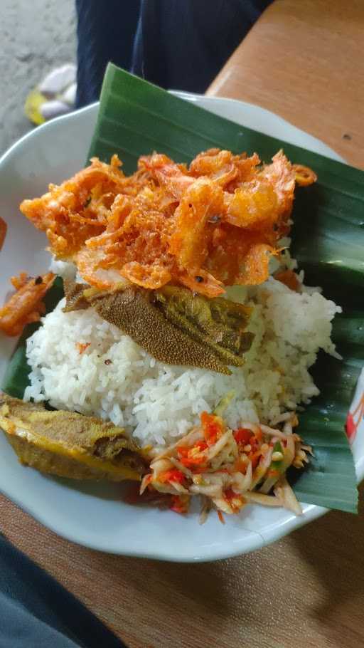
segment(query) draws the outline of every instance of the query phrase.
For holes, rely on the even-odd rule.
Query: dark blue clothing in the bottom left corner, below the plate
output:
[[[0,648],[125,645],[79,600],[0,534]]]

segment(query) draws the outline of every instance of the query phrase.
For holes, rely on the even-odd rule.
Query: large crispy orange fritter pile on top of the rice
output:
[[[139,158],[127,177],[119,159],[97,159],[21,211],[46,232],[57,258],[77,264],[92,286],[187,286],[208,297],[234,283],[262,283],[289,231],[296,181],[314,182],[282,151],[210,149],[189,166],[164,154]],[[304,179],[303,179],[304,178]]]

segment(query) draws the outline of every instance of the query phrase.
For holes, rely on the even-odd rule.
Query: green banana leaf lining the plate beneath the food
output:
[[[88,157],[109,161],[117,153],[129,173],[139,155],[158,151],[188,162],[210,147],[256,151],[264,161],[283,147],[292,162],[319,176],[315,185],[296,192],[292,249],[306,283],[322,286],[343,307],[333,331],[343,361],[322,355],[314,367],[321,395],[300,415],[299,427],[314,459],[306,471],[292,471],[291,480],[300,501],[355,512],[358,492],[345,422],[364,360],[364,173],[208,113],[109,64]],[[26,372],[23,365],[23,377]],[[21,367],[10,375],[12,386],[5,381],[3,389],[19,396],[14,390],[16,380],[24,384]]]

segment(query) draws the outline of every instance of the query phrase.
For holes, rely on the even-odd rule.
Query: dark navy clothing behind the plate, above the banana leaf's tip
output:
[[[108,61],[161,88],[205,92],[271,1],[76,0],[77,106],[99,98]]]

